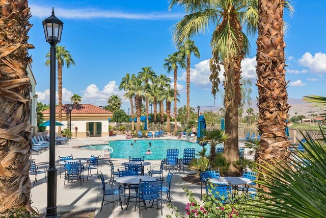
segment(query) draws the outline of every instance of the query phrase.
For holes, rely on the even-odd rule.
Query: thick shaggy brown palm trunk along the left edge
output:
[[[34,48],[28,43],[30,16],[28,1],[0,3],[0,214],[5,217],[9,217],[9,210],[33,210],[29,177],[30,78],[26,73],[31,62],[28,49]]]

